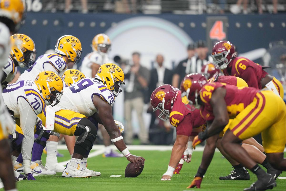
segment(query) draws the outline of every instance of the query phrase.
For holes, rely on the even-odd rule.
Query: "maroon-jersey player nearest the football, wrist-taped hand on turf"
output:
[[[181,91],[169,84],[164,84],[156,88],[150,98],[153,111],[159,110],[158,118],[166,121],[170,118],[170,123],[176,127],[176,141],[174,143],[168,170],[163,174],[161,180],[171,180],[173,174],[179,174],[182,164],[179,164],[181,156],[184,154],[183,162],[190,162],[192,156],[192,138],[202,131],[205,120],[196,109],[191,111],[191,106],[182,103]],[[187,108],[188,107],[188,108]],[[188,146],[186,148],[186,145]],[[178,165],[178,166],[177,166]],[[176,169],[175,169],[176,168]]]

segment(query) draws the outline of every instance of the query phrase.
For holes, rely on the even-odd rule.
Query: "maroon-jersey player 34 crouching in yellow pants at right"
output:
[[[190,74],[187,89],[182,89],[191,105],[201,108],[207,128],[194,138],[193,147],[218,134],[229,123],[222,138],[223,149],[243,166],[257,175],[258,180],[245,190],[266,190],[276,186],[275,180],[254,162],[241,147],[244,139],[262,133],[263,147],[269,163],[276,169],[286,170],[283,151],[286,143],[286,106],[283,100],[270,90],[238,88],[219,82],[206,83],[203,75]],[[193,76],[193,78],[192,78]],[[183,93],[182,93],[183,94]],[[273,107],[274,106],[274,107]],[[189,188],[200,186],[206,169],[198,172]]]

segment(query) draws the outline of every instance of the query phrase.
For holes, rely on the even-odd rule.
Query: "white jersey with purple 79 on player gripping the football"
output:
[[[111,107],[113,106],[115,97],[112,91],[96,78],[83,78],[71,86],[63,88],[60,102],[51,108],[55,112],[71,110],[88,117],[98,111],[92,101],[95,95]]]

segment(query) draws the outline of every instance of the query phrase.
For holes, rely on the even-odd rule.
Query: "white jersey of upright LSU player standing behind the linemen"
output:
[[[91,69],[92,63],[102,65],[102,64],[105,64],[108,62],[109,62],[108,54],[106,54],[106,53],[99,54],[98,52],[94,51],[94,52],[91,52],[84,57],[80,71],[82,71],[82,73],[84,73],[84,75],[87,78],[94,78],[95,76],[91,76],[91,74],[92,74],[92,69]]]

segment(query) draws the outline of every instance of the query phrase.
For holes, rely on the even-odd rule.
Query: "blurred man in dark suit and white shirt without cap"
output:
[[[148,86],[149,98],[154,89],[158,86],[172,83],[173,73],[171,70],[163,66],[163,62],[163,55],[158,54],[156,56],[155,68],[151,70],[151,78]],[[169,121],[164,123],[162,120],[156,118],[156,115],[154,115],[154,112],[152,111],[152,107],[148,109],[148,112],[152,115],[149,127],[150,142],[155,145],[171,144],[173,141],[173,129],[171,129]]]

